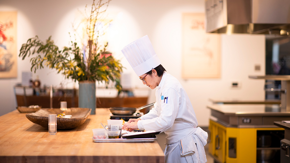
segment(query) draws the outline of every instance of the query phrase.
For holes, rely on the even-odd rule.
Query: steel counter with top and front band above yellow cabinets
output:
[[[278,127],[274,121],[290,120],[290,112],[278,104],[213,104],[211,119],[227,127]]]

